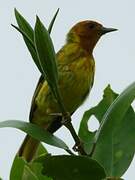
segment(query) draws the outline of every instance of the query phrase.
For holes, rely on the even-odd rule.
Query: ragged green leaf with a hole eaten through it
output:
[[[91,152],[94,136],[96,133],[96,131],[95,132],[89,131],[88,121],[90,121],[91,116],[94,115],[100,123],[103,115],[105,114],[108,107],[112,104],[112,102],[114,101],[116,97],[117,97],[117,94],[114,93],[110,85],[108,85],[104,90],[103,99],[100,101],[100,103],[97,106],[86,111],[83,115],[83,118],[80,123],[78,135],[82,139],[84,143],[85,151],[88,154]]]

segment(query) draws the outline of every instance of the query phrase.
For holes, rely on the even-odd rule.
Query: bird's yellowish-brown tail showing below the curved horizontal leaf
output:
[[[39,141],[27,135],[18,151],[18,155],[30,162],[37,151],[38,145]]]

